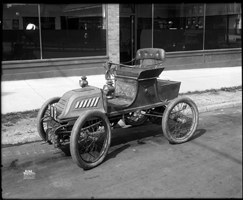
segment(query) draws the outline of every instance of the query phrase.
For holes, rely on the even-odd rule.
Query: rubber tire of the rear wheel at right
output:
[[[167,122],[168,122],[169,115],[170,115],[171,111],[173,110],[173,108],[178,103],[182,103],[182,102],[187,103],[191,107],[192,114],[194,116],[195,121],[194,121],[194,124],[192,125],[190,132],[187,133],[186,136],[183,137],[182,139],[179,139],[179,138],[174,138],[171,135],[171,133],[169,131],[169,127],[167,126]],[[164,136],[167,138],[167,140],[170,143],[172,143],[172,144],[184,143],[184,142],[187,142],[188,140],[190,140],[190,138],[193,136],[194,132],[197,129],[198,121],[199,121],[199,113],[198,113],[198,109],[197,109],[197,106],[194,103],[194,101],[192,101],[188,97],[178,97],[178,98],[174,99],[172,102],[170,102],[169,105],[165,109],[165,112],[164,112],[163,118],[162,118],[162,131],[164,133]]]

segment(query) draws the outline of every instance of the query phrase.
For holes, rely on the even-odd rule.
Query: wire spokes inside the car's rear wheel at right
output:
[[[194,114],[186,102],[175,105],[169,115],[168,128],[174,138],[187,137],[194,124]]]

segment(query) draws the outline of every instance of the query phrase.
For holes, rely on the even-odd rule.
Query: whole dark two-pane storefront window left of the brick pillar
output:
[[[3,60],[106,55],[104,4],[3,4]]]

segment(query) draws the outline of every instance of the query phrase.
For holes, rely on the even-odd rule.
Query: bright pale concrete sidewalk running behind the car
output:
[[[160,79],[181,81],[180,93],[220,89],[222,87],[242,85],[241,68],[241,66],[238,66],[163,71],[160,75]],[[68,90],[79,88],[80,77],[81,75],[73,77],[2,81],[2,114],[39,109],[47,99],[54,96],[62,96]],[[104,75],[87,76],[87,80],[89,85],[99,88],[102,88],[106,83]],[[208,100],[199,95],[190,96],[197,99],[196,103],[200,105],[211,105],[213,102],[215,106],[227,102],[229,105],[234,105],[236,102],[239,103],[242,101],[241,95],[235,96],[235,94],[231,94],[231,96],[222,96],[217,101],[215,101],[215,99],[217,99],[216,96],[214,97],[215,99]]]

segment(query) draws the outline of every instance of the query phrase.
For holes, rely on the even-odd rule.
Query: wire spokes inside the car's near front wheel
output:
[[[85,162],[96,162],[104,153],[107,127],[102,119],[88,119],[80,130],[78,139],[79,155]]]

